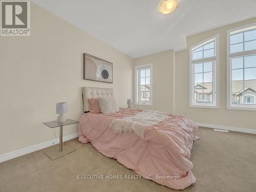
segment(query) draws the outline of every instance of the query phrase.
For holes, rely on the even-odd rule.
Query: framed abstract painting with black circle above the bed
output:
[[[84,53],[83,79],[113,83],[113,63]]]

